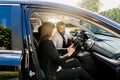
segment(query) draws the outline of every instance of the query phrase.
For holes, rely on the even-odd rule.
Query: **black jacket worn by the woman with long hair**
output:
[[[58,66],[64,64],[68,58],[68,56],[59,55],[52,40],[47,39],[39,44],[38,59],[49,80],[55,80]]]

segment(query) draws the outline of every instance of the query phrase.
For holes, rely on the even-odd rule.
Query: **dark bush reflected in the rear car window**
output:
[[[11,29],[0,25],[0,47],[11,49]]]

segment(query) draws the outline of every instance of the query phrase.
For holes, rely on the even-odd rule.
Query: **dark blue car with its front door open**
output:
[[[36,48],[45,21],[65,22],[70,43],[80,51],[73,57],[95,80],[120,80],[120,24],[82,8],[34,0],[0,0],[0,72],[13,67],[19,80],[46,80]]]

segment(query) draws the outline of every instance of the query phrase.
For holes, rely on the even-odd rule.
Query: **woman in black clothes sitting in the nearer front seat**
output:
[[[63,56],[59,55],[52,42],[55,32],[55,26],[50,22],[44,22],[39,29],[38,59],[47,80],[74,80],[76,78],[93,80],[80,67],[80,63],[76,58],[70,59],[70,56],[75,51],[73,44],[67,49],[68,53]],[[58,70],[59,66],[62,67],[61,70]]]

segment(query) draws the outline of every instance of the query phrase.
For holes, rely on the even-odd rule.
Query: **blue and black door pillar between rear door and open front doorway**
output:
[[[32,25],[30,23],[30,14],[34,10],[22,5],[22,30],[24,38],[25,54],[21,64],[21,80],[45,80],[45,74],[40,68],[37,49],[34,44]],[[26,76],[25,76],[26,75]]]

